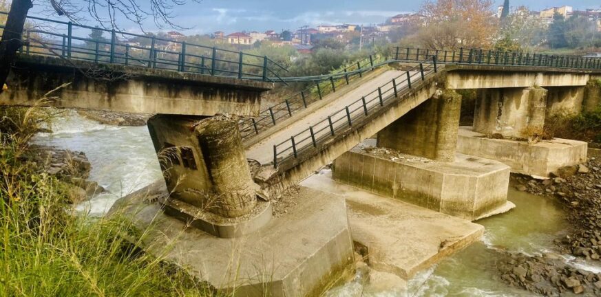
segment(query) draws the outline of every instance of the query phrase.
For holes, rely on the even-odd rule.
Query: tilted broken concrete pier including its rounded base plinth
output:
[[[257,200],[235,118],[155,115],[148,127],[170,193],[168,214],[226,238],[271,219],[271,205]]]

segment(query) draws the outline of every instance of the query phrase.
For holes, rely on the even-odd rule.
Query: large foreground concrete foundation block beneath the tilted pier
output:
[[[337,195],[302,187],[286,214],[235,239],[167,216],[156,202],[166,195],[160,181],[120,199],[109,215],[124,216],[145,230],[145,251],[229,296],[318,296],[352,270],[346,203]]]

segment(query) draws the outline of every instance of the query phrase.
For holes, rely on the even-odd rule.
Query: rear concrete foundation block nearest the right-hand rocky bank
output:
[[[492,139],[462,126],[457,141],[458,153],[494,159],[507,164],[513,173],[547,178],[563,166],[586,162],[587,143],[577,140],[543,140],[536,144],[525,141]]]

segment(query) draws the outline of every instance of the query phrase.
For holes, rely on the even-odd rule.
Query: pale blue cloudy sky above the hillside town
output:
[[[38,0],[39,2],[40,0]],[[145,1],[145,0],[138,0]],[[512,7],[526,5],[531,10],[542,10],[552,6],[571,5],[574,9],[601,8],[599,0],[529,0],[509,1]],[[35,3],[35,2],[34,2]],[[184,34],[210,34],[224,31],[226,34],[239,31],[297,30],[302,25],[353,23],[369,25],[383,23],[395,14],[415,12],[422,0],[201,0],[174,8],[173,21],[184,27]],[[503,0],[495,0],[503,5]],[[40,13],[34,7],[32,14]],[[52,19],[57,19],[52,17]],[[129,32],[140,32],[135,24],[125,20],[118,22],[120,28]],[[92,24],[94,25],[94,24]],[[157,28],[147,20],[147,31],[168,31]]]

